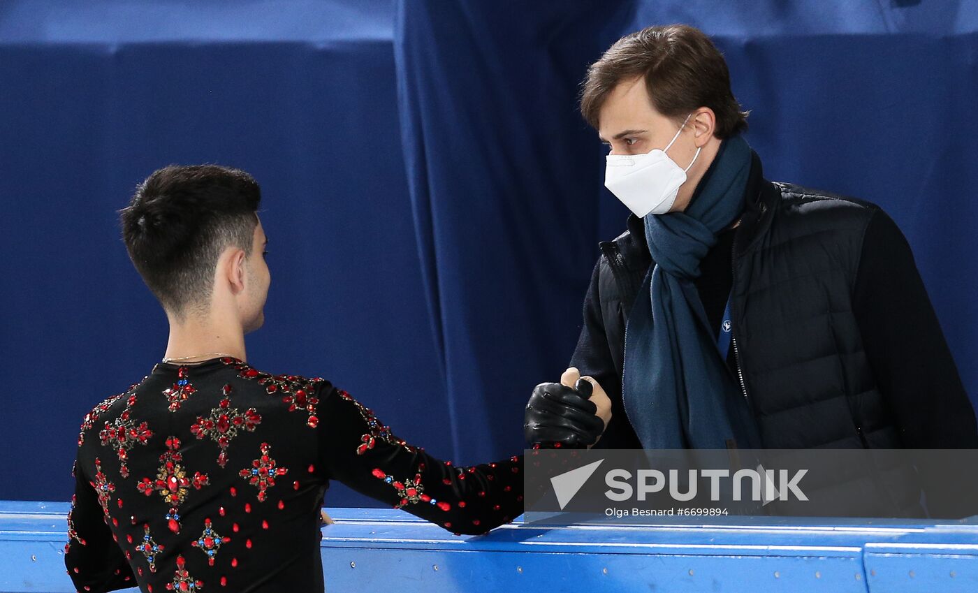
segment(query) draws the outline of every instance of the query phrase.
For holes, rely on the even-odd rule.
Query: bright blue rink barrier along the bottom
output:
[[[73,591],[67,503],[0,501],[0,591]],[[331,593],[978,591],[978,525],[515,523],[454,536],[387,509],[328,509]]]

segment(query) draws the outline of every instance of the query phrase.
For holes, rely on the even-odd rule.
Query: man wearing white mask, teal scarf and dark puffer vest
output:
[[[876,205],[764,178],[705,34],[621,38],[581,112],[633,212],[600,244],[571,359],[612,401],[599,446],[978,447],[904,236]],[[894,517],[922,514],[914,468],[857,471]]]

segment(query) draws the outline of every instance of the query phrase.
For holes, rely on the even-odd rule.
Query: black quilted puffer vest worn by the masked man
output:
[[[746,203],[733,240],[733,351],[736,380],[765,448],[902,447],[851,305],[863,238],[877,206],[767,181],[756,155]],[[619,379],[626,320],[654,265],[641,220],[630,217],[629,227],[600,245],[601,317]],[[621,409],[615,388],[609,396]],[[608,431],[607,446],[638,443],[627,419],[613,418]],[[892,503],[894,517],[921,514],[910,465],[853,468],[850,474],[837,477],[843,485],[832,486],[833,504],[848,499],[836,514],[861,515],[859,500],[867,496]]]

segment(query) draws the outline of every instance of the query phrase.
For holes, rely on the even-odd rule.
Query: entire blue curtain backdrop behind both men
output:
[[[516,452],[626,214],[577,85],[652,23],[713,35],[769,178],[896,219],[978,396],[978,2],[21,0],[0,4],[0,498],[67,499],[81,417],[161,355],[114,211],[170,162],[262,184],[253,364],[327,376],[433,454]]]

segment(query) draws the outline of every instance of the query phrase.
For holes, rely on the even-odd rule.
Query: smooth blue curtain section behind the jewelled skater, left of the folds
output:
[[[453,453],[392,27],[388,1],[0,4],[0,499],[67,500],[82,416],[162,356],[115,210],[171,162],[262,185],[272,286],[249,361],[328,377]],[[367,504],[339,484],[328,500]]]

